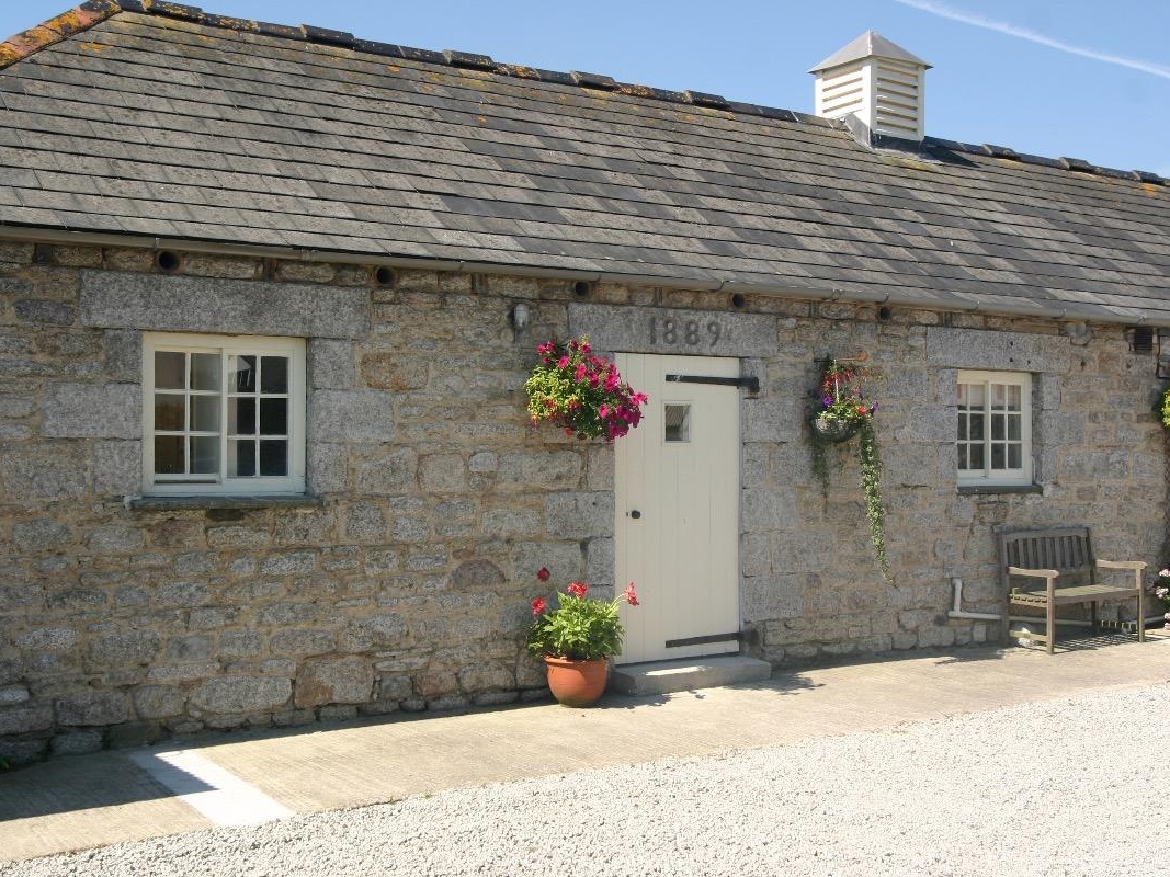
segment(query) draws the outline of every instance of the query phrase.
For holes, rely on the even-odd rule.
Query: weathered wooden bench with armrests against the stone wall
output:
[[[1088,527],[1053,530],[1012,530],[999,533],[1000,576],[1007,594],[1004,634],[1042,642],[1053,654],[1057,636],[1057,607],[1089,603],[1093,629],[1097,629],[1097,603],[1102,600],[1137,598],[1137,640],[1145,641],[1145,601],[1141,560],[1096,560]],[[1133,585],[1102,585],[1101,569],[1131,569]],[[1040,581],[1042,580],[1042,581]],[[1045,610],[1045,634],[1012,631],[1009,616],[1013,606]]]

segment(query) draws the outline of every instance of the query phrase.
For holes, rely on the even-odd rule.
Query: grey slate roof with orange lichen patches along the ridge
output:
[[[0,235],[1170,325],[1155,174],[163,2],[91,0],[0,65]]]

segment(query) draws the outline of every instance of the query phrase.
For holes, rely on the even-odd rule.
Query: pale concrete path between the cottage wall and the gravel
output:
[[[1170,682],[1170,635],[910,654],[777,671],[768,683],[60,758],[0,774],[0,862],[446,788],[704,755]]]

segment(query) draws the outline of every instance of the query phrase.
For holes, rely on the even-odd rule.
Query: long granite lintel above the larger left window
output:
[[[364,289],[82,271],[87,326],[163,332],[360,338],[369,331]]]

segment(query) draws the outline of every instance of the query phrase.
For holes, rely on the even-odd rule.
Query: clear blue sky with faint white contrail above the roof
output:
[[[69,5],[7,0],[0,34]],[[1170,177],[1170,4],[1155,0],[206,0],[204,8],[806,112],[806,70],[874,29],[934,64],[929,134]]]

